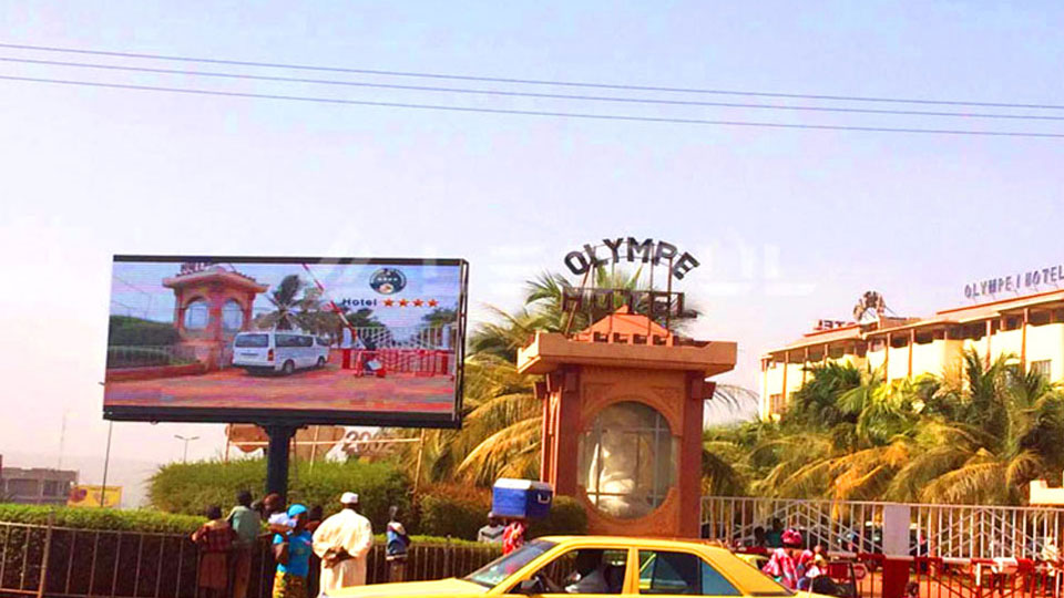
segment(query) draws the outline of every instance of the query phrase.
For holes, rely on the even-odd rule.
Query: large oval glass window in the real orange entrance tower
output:
[[[602,513],[642,517],[657,508],[676,483],[677,444],[668,422],[653,408],[615,403],[580,437],[580,483]]]

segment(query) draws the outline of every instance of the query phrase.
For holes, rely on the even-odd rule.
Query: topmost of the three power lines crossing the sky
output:
[[[233,66],[257,66],[266,69],[291,69],[301,71],[318,71],[331,73],[350,73],[362,75],[382,75],[382,76],[405,76],[418,79],[443,79],[452,81],[478,81],[485,83],[510,83],[520,85],[551,85],[564,87],[586,87],[600,90],[625,90],[644,92],[669,92],[669,93],[696,93],[713,95],[745,95],[756,97],[779,97],[791,100],[829,100],[840,102],[881,102],[893,104],[925,104],[925,105],[950,105],[950,106],[982,106],[982,107],[1007,107],[1007,109],[1032,109],[1032,110],[1064,110],[1064,104],[1024,104],[1014,102],[974,102],[962,100],[923,100],[907,97],[884,97],[884,96],[861,96],[861,95],[827,95],[827,94],[802,94],[802,93],[779,93],[779,92],[758,92],[741,90],[719,90],[719,89],[698,89],[698,87],[671,87],[658,85],[628,85],[620,83],[591,83],[581,81],[549,81],[542,79],[514,79],[499,76],[478,76],[478,75],[458,75],[446,73],[428,73],[412,71],[388,71],[377,69],[350,69],[342,66],[318,66],[313,64],[286,64],[279,62],[255,62],[242,60],[206,59],[194,56],[180,56],[170,54],[149,54],[139,52],[111,52],[104,50],[82,50],[75,48],[57,48],[50,45],[30,45],[18,43],[0,43],[0,48],[10,50],[32,50],[39,52],[59,52],[69,54],[88,54],[98,56],[132,58],[147,60],[165,60],[173,62],[200,62],[204,64],[227,64]]]

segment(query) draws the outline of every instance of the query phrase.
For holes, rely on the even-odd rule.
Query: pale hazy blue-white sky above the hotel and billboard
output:
[[[18,0],[0,1],[0,42],[1064,104],[1062,18],[1057,2]],[[0,74],[510,110],[1064,132],[1052,121],[457,97],[3,62]],[[738,341],[739,368],[725,380],[757,388],[766,348],[818,318],[845,318],[867,289],[898,313],[927,315],[963,303],[973,279],[1058,264],[1062,156],[1064,140],[577,121],[0,81],[0,453],[53,464],[66,411],[65,452],[102,456],[98,381],[113,254],[462,257],[477,319],[485,303],[516,307],[523,280],[562,268],[584,243],[661,238],[702,261],[682,285],[704,312],[693,332]],[[175,433],[202,436],[191,446],[196,457],[223,444],[217,425],[120,423],[115,457],[180,458]],[[98,475],[84,466],[83,477]]]

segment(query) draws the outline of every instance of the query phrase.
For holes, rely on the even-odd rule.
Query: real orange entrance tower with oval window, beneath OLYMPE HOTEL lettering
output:
[[[706,378],[735,360],[734,342],[626,307],[572,337],[536,333],[518,370],[544,374],[541,478],[583,503],[593,534],[698,537]]]

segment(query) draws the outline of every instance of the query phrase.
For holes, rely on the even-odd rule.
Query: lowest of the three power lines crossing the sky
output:
[[[1040,132],[1020,132],[1020,131],[971,131],[954,128],[903,128],[903,127],[882,127],[882,126],[853,126],[853,125],[829,125],[829,124],[796,124],[796,123],[774,123],[774,122],[754,122],[754,121],[723,121],[723,120],[703,120],[703,118],[677,118],[664,116],[637,116],[628,114],[594,114],[580,112],[550,112],[536,110],[510,110],[510,109],[489,109],[489,107],[468,107],[468,106],[448,106],[441,104],[417,104],[405,102],[376,102],[369,100],[345,100],[338,97],[314,97],[301,95],[280,95],[265,93],[227,92],[217,90],[198,90],[188,87],[165,87],[158,85],[132,85],[124,83],[103,83],[93,81],[75,81],[66,79],[45,79],[33,76],[13,76],[0,75],[3,81],[21,81],[33,83],[53,83],[59,85],[72,85],[84,87],[105,87],[114,90],[135,90],[183,93],[191,95],[214,95],[225,97],[250,97],[259,100],[284,100],[291,102],[310,102],[321,104],[339,104],[355,106],[377,106],[377,107],[398,107],[411,110],[432,110],[462,113],[483,113],[483,114],[511,114],[522,116],[555,116],[566,118],[585,118],[596,121],[626,121],[644,123],[672,123],[672,124],[698,124],[698,125],[723,125],[723,126],[747,126],[761,128],[792,128],[792,130],[819,130],[819,131],[862,131],[878,133],[917,133],[917,134],[937,134],[937,135],[966,135],[966,136],[992,136],[992,137],[1041,137],[1041,138],[1064,138],[1064,133],[1040,133]]]

